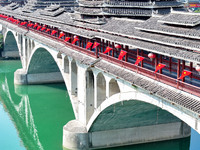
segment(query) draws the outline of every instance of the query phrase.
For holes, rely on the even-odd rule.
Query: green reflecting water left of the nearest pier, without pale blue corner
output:
[[[8,66],[4,67],[6,73],[1,67],[4,64]],[[16,61],[0,63],[0,102],[9,112],[26,149],[61,150],[62,128],[74,119],[65,85],[14,87],[13,72],[19,66]]]

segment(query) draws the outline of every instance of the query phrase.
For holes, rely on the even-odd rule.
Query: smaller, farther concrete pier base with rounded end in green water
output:
[[[46,84],[64,82],[60,72],[27,74],[24,69],[14,73],[15,84]]]

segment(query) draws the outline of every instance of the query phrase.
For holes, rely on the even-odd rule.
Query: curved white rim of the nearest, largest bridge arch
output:
[[[124,93],[118,93],[115,94],[108,99],[106,99],[94,112],[90,120],[87,124],[87,131],[90,130],[93,122],[96,120],[96,118],[99,116],[101,112],[103,112],[107,107],[116,104],[118,102],[122,101],[129,101],[129,100],[137,100],[146,102],[152,105],[155,105],[157,107],[160,107],[163,110],[168,111],[169,113],[173,114],[177,118],[181,119],[185,123],[187,123],[191,128],[196,130],[198,133],[200,133],[200,120],[196,119],[195,116],[192,116],[189,114],[189,111],[183,110],[182,107],[175,105],[174,103],[170,103],[168,101],[165,101],[164,99],[161,99],[159,97],[145,94],[138,91],[132,91],[132,92],[124,92]]]

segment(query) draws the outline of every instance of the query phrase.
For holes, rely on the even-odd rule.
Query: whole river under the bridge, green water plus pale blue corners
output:
[[[19,60],[0,60],[0,150],[62,150],[62,128],[74,114],[64,84],[13,84]],[[109,150],[200,150],[200,134]]]

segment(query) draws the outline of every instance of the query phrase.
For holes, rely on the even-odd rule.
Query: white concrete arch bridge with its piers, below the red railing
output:
[[[19,56],[22,62],[23,68],[15,72],[15,84],[65,82],[76,117],[63,128],[65,148],[183,138],[190,135],[190,127],[200,133],[197,112],[133,85],[119,74],[141,77],[200,102],[199,97],[12,24],[2,23],[2,33],[2,55]]]

